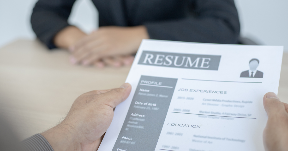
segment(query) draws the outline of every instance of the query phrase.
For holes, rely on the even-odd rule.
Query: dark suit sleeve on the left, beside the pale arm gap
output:
[[[75,0],[39,0],[31,15],[32,29],[49,49],[56,48],[53,38],[69,26],[67,20]]]

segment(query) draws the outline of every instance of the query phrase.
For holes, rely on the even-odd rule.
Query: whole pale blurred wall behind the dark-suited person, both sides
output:
[[[37,0],[0,0],[0,47],[16,39],[35,39],[30,16]],[[261,45],[284,45],[288,52],[287,0],[234,0],[241,35]],[[77,0],[69,23],[86,33],[98,28],[98,11],[90,0]]]

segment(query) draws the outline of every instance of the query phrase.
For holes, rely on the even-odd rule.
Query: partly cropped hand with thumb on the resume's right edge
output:
[[[282,103],[273,92],[263,98],[268,121],[263,131],[266,151],[288,150],[288,104]]]

